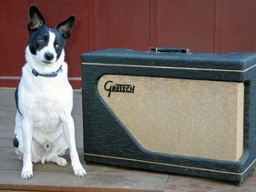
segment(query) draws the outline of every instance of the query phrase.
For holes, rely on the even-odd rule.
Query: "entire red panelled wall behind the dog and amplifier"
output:
[[[92,50],[173,46],[191,52],[256,52],[254,0],[2,0],[0,87],[19,82],[31,3],[50,27],[76,14],[65,47],[74,88],[81,87],[80,54]]]

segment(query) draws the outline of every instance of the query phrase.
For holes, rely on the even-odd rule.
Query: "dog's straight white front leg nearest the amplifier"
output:
[[[75,125],[72,116],[69,116],[64,120],[63,124],[65,137],[69,144],[70,158],[73,171],[76,176],[83,177],[87,174],[82,164],[80,163],[78,153],[76,150],[76,138],[75,138]]]

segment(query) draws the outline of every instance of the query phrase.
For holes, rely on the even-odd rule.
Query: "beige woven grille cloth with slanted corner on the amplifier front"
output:
[[[98,92],[146,150],[224,161],[243,153],[243,83],[105,75]]]

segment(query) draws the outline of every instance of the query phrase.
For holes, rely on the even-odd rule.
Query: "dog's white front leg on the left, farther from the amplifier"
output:
[[[22,179],[31,179],[33,176],[32,164],[32,135],[33,128],[28,118],[22,120],[22,138],[24,143],[23,168],[21,172]]]

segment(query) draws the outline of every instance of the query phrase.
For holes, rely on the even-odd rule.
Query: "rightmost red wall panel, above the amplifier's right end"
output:
[[[256,52],[256,1],[217,0],[217,53]]]

